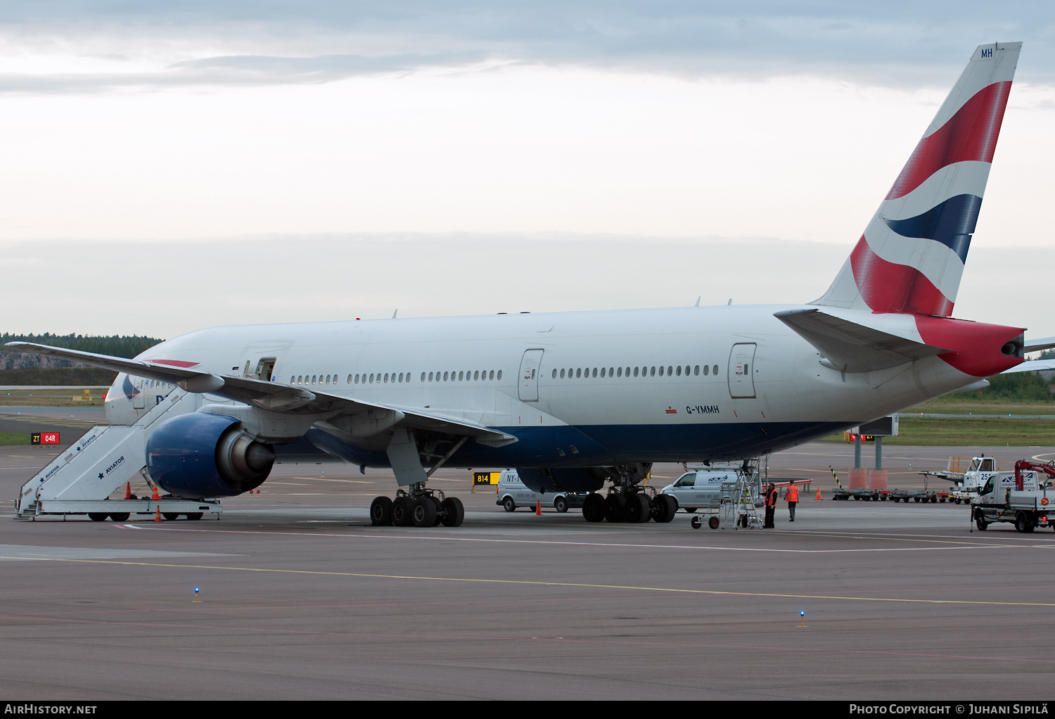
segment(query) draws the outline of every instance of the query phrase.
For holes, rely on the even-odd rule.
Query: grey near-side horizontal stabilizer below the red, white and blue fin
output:
[[[850,322],[820,309],[788,309],[773,315],[817,347],[826,366],[841,372],[872,372],[950,352]]]

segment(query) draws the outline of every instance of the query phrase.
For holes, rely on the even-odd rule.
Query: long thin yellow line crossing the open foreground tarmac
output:
[[[683,594],[711,594],[716,597],[765,597],[771,599],[848,600],[852,602],[903,602],[909,604],[981,604],[986,606],[1011,607],[1055,607],[1055,602],[986,602],[982,600],[920,600],[887,597],[841,597],[838,594],[780,594],[761,591],[717,591],[714,589],[677,589],[674,587],[635,587],[621,584],[588,584],[581,582],[540,582],[531,580],[482,580],[464,576],[416,576],[413,574],[368,574],[365,572],[315,571],[309,569],[267,569],[263,567],[220,567],[200,564],[161,564],[154,562],[118,562],[114,560],[61,560],[54,557],[0,556],[0,560],[23,560],[38,562],[73,562],[80,564],[113,564],[131,567],[166,567],[175,569],[226,569],[228,571],[249,571],[272,574],[308,574],[319,576],[358,576],[377,580],[410,580],[417,582],[465,582],[469,584],[513,584],[540,587],[575,587],[578,589],[621,589],[632,591],[659,591]]]

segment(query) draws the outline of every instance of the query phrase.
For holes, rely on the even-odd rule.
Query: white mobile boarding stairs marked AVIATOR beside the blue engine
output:
[[[41,515],[91,514],[123,522],[133,514],[186,514],[199,519],[203,514],[223,511],[218,499],[111,499],[111,494],[137,475],[154,487],[146,472],[147,439],[161,421],[195,412],[202,395],[174,389],[147,414],[129,427],[93,427],[69,450],[50,461],[22,485],[15,500],[17,518]]]

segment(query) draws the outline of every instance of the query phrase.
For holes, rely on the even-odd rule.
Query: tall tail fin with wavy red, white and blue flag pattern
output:
[[[952,316],[1021,48],[975,50],[836,281],[812,304]]]

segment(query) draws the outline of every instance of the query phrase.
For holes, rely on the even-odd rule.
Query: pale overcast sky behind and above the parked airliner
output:
[[[972,262],[1053,246],[1053,16],[1043,2],[8,0],[0,272],[33,268],[53,309],[4,328],[169,337],[395,306],[682,304],[704,286],[724,303],[729,277],[737,302],[809,301],[972,50],[994,40],[1025,44],[956,314],[1025,324],[1013,292],[983,290],[993,265]],[[668,291],[661,262],[631,271],[678,263],[671,247],[697,263],[696,288]],[[73,257],[92,268],[83,284],[47,283]],[[1048,266],[1027,261],[1021,283]],[[178,284],[151,281],[172,271]],[[5,314],[24,277],[0,289]],[[266,301],[244,307],[224,288],[253,295],[254,277]],[[456,277],[511,306],[446,291]],[[634,286],[582,291],[606,277]],[[127,285],[137,310],[87,318],[100,282],[118,305]],[[180,310],[189,296],[203,310]],[[1055,335],[1044,321],[1030,316]]]

